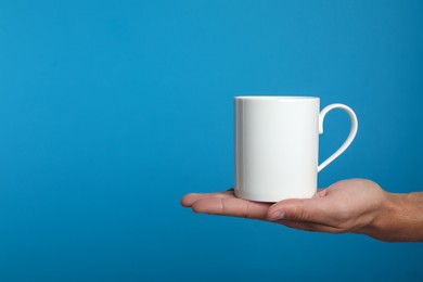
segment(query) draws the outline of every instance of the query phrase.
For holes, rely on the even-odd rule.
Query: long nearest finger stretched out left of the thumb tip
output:
[[[271,204],[251,202],[238,197],[206,197],[192,204],[195,213],[244,217],[254,219],[266,219],[268,208]]]

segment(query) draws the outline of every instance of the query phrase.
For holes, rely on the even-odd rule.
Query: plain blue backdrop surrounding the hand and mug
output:
[[[423,190],[422,30],[419,0],[1,1],[0,280],[422,281],[422,244],[179,205],[233,185],[240,94],[355,108],[320,187]]]

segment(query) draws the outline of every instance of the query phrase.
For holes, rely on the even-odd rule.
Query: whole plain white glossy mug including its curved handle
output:
[[[352,142],[354,111],[331,104],[320,112],[315,97],[235,97],[235,195],[251,201],[309,198],[317,175]],[[344,144],[318,165],[319,133],[333,108],[345,110],[351,129]]]

